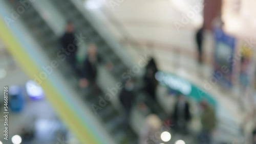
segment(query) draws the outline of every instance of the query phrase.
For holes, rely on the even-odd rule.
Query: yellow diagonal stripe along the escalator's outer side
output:
[[[18,43],[16,38],[11,34],[10,30],[5,25],[3,19],[0,19],[0,37],[5,43],[8,51],[16,59],[18,64],[23,68],[26,74],[33,79],[33,75],[37,76],[41,72],[31,58],[23,51],[22,46]],[[61,95],[52,86],[47,79],[41,84],[44,89],[47,99],[52,104],[59,116],[66,122],[67,126],[77,136],[81,143],[99,143],[93,137],[88,128],[83,124],[79,117],[75,114],[70,107],[61,99]]]

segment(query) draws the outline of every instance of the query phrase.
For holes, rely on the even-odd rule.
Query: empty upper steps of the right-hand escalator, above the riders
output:
[[[126,61],[123,60],[121,56],[116,52],[117,49],[121,49],[119,46],[113,46],[113,41],[110,43],[110,40],[106,40],[103,36],[104,33],[100,32],[96,27],[95,21],[89,21],[88,17],[85,17],[81,11],[72,3],[71,1],[51,1],[55,4],[56,8],[62,13],[66,21],[71,21],[77,30],[81,33],[82,36],[87,37],[87,42],[95,43],[98,47],[98,52],[100,57],[102,57],[106,62],[111,62],[114,65],[111,73],[117,81],[122,79],[122,74],[124,71],[130,67],[126,64]],[[102,27],[102,26],[100,26]],[[108,34],[110,36],[110,34]],[[117,44],[115,42],[115,44]],[[114,49],[117,47],[117,49]],[[131,59],[128,59],[131,61]]]

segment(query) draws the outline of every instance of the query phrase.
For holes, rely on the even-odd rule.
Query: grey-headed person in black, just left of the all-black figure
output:
[[[119,95],[120,103],[124,108],[124,121],[127,127],[129,126],[130,112],[135,99],[134,87],[134,82],[132,80],[127,81]]]

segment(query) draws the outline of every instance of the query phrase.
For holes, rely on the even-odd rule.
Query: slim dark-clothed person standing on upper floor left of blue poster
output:
[[[202,43],[203,43],[203,32],[204,28],[200,28],[196,33],[196,42],[197,42],[197,48],[198,48],[198,62],[203,62],[203,50],[202,50]]]

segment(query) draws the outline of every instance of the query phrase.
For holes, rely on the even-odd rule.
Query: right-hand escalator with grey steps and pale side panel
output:
[[[103,59],[113,63],[114,69],[111,71],[111,73],[116,81],[124,81],[125,79],[123,78],[123,74],[127,72],[128,69],[132,70],[132,66],[134,66],[127,63],[127,61],[132,61],[132,59],[125,59],[123,58],[123,55],[118,55],[118,52],[116,51],[124,51],[124,49],[121,45],[119,45],[116,39],[107,39],[114,36],[112,36],[111,32],[109,31],[104,31],[105,33],[102,32],[103,29],[106,29],[102,29],[104,23],[95,18],[91,12],[87,11],[83,7],[81,1],[71,0],[63,3],[61,0],[53,0],[51,2],[56,6],[59,12],[62,13],[66,21],[72,21],[77,31],[82,32],[82,35],[86,36],[89,42],[93,42],[97,45],[99,55]],[[97,23],[100,24],[96,25]],[[142,78],[140,78],[139,75],[135,76],[135,80],[137,81],[138,87],[143,87],[143,84],[141,83]],[[149,108],[151,108],[151,111],[156,113],[162,120],[167,117],[167,114],[164,112],[162,107],[158,103],[154,102],[153,99],[148,97],[148,94],[143,90],[138,90],[136,95],[137,98],[143,99],[143,102],[147,104]]]

